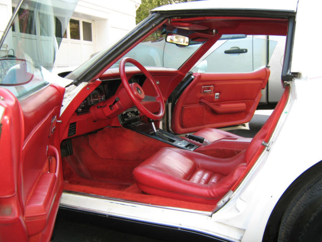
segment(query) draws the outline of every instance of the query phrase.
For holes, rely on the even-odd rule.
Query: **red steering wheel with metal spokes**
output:
[[[152,85],[154,91],[156,92],[155,101],[158,102],[160,105],[160,111],[157,114],[154,114],[150,112],[143,104],[141,103],[141,100],[144,98],[144,92],[140,85],[137,83],[129,84],[126,74],[125,74],[125,64],[131,63],[134,66],[136,66],[140,71],[145,75],[146,79],[150,82]],[[125,57],[122,59],[120,66],[119,66],[120,76],[123,83],[123,86],[125,88],[126,93],[129,95],[130,99],[133,101],[134,105],[139,109],[140,112],[142,112],[145,116],[153,119],[153,120],[159,120],[163,117],[165,114],[165,102],[162,96],[162,93],[160,92],[160,89],[156,85],[153,77],[151,74],[135,59],[132,59],[130,57]]]

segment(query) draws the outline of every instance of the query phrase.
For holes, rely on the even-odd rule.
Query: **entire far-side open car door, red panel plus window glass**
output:
[[[172,130],[184,134],[249,122],[267,85],[275,46],[253,36],[215,43],[173,93]]]

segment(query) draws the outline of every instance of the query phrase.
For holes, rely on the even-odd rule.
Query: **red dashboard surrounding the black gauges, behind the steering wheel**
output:
[[[178,83],[184,77],[184,75],[181,72],[175,69],[147,68],[147,70],[151,73],[154,80],[159,82],[158,87],[162,92],[165,100],[170,96],[173,89],[178,85]],[[134,75],[141,74],[141,72],[138,69],[132,68],[132,67],[126,67],[126,73],[127,73],[128,79],[130,79]],[[107,70],[100,77],[101,80],[118,79],[118,78],[120,78],[119,73],[118,71],[115,72],[114,69],[113,71]],[[83,134],[92,132],[94,130],[102,129],[107,126],[121,127],[118,117],[116,115],[114,115],[115,117],[111,117],[113,116],[113,113],[111,115],[110,112],[107,113],[107,115],[109,115],[109,118],[107,118],[103,110],[95,110],[95,108],[92,108],[92,110],[94,109],[92,113],[86,113],[82,115],[76,115],[76,113],[74,112],[74,110],[77,109],[79,104],[81,104],[81,102],[100,84],[101,84],[101,81],[97,80],[85,86],[77,94],[77,96],[71,101],[67,109],[63,112],[62,116],[60,117],[60,119],[62,120],[62,124],[61,124],[62,129],[61,129],[61,137],[60,137],[61,140],[70,138],[68,137],[68,127],[69,127],[69,124],[71,123],[76,123],[76,134],[71,137],[83,135]],[[122,89],[122,87],[123,85],[121,84],[117,92],[119,92]],[[145,95],[155,96],[155,93],[148,81],[144,82],[142,88],[144,90]],[[106,102],[106,104],[107,105],[112,104],[116,96],[111,97]],[[128,95],[125,94],[125,96],[126,96],[126,99],[128,99],[127,98]],[[159,111],[159,104],[156,101],[143,100],[142,104],[151,112]],[[102,105],[102,103],[99,103],[98,105]],[[116,104],[116,109],[118,105],[119,104]],[[128,105],[128,103],[126,103],[126,105]],[[94,105],[94,107],[97,107],[97,105]]]

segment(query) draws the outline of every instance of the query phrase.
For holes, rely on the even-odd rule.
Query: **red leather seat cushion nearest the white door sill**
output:
[[[148,194],[215,204],[246,169],[245,152],[219,159],[163,148],[133,170],[138,188]]]

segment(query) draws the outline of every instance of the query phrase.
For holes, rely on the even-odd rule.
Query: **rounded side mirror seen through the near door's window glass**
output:
[[[21,58],[0,58],[0,86],[19,86],[30,82],[35,69],[31,62]]]

